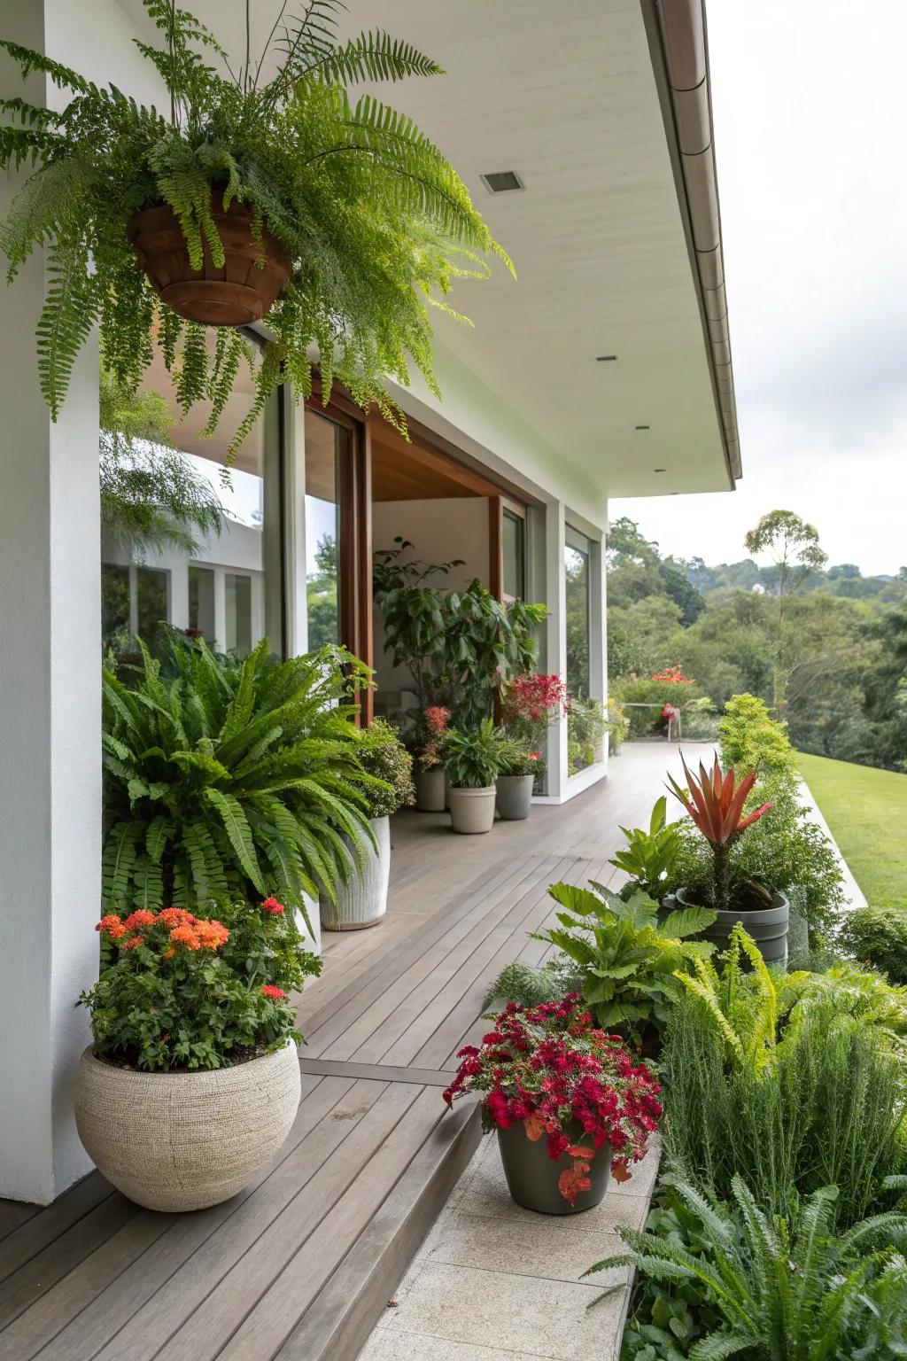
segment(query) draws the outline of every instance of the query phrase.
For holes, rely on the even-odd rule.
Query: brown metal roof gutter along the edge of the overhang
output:
[[[742,468],[721,246],[706,7],[704,0],[640,0],[640,4],[733,487]]]

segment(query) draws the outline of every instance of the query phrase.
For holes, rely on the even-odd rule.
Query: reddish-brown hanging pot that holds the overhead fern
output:
[[[261,321],[290,278],[290,257],[267,227],[256,241],[249,208],[234,199],[224,210],[219,189],[211,193],[211,215],[223,244],[222,265],[205,241],[203,267],[192,268],[179,222],[167,204],[144,208],[129,223],[139,264],[162,302],[186,321],[205,327]]]

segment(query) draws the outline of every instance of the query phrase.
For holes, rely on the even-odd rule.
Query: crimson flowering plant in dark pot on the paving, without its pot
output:
[[[481,1047],[465,1045],[457,1057],[447,1105],[483,1092],[485,1131],[522,1121],[528,1139],[547,1141],[553,1162],[568,1157],[558,1188],[570,1204],[589,1190],[593,1157],[611,1157],[612,1176],[627,1181],[658,1127],[654,1074],[619,1036],[596,1026],[577,992],[537,1007],[510,1002]]]

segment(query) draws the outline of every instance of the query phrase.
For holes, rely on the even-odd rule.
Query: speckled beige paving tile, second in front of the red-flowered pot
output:
[[[522,1351],[551,1361],[587,1361],[613,1351],[623,1292],[538,1281],[506,1271],[427,1263],[385,1324],[473,1346]]]

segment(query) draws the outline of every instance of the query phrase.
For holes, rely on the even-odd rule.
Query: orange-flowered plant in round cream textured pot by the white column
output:
[[[150,1210],[227,1200],[284,1142],[299,1105],[291,992],[321,961],[276,898],[109,913],[102,972],[79,999],[94,1045],[76,1126],[98,1169]]]

